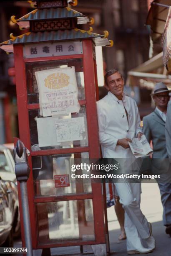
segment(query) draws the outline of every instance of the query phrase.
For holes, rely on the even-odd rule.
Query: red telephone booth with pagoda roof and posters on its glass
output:
[[[30,150],[33,249],[94,245],[100,256],[106,255],[102,186],[72,179],[71,165],[100,157],[95,46],[112,46],[112,41],[107,31],[99,35],[76,28],[93,19],[68,2],[37,0],[32,12],[17,20],[12,16],[30,32],[10,35],[1,48],[14,52],[20,140]],[[20,215],[24,246],[21,209]]]

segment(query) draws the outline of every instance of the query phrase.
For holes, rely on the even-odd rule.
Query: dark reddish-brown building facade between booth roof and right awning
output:
[[[79,0],[78,11],[95,19],[97,33],[107,28],[114,41],[103,50],[106,69],[116,68],[126,78],[128,70],[148,59],[149,33],[146,23],[148,2],[144,0]]]

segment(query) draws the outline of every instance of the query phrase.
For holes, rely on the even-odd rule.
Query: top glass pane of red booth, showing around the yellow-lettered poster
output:
[[[38,84],[35,78],[35,72],[47,69],[75,67],[75,74],[78,86],[78,100],[85,99],[84,90],[84,73],[82,59],[54,60],[54,61],[37,61],[26,63],[27,93],[28,104],[39,103]]]

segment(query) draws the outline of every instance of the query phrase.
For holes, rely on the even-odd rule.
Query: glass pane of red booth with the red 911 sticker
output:
[[[85,153],[53,156],[33,156],[33,181],[35,196],[82,194],[91,192],[91,179],[75,179],[72,174],[87,174],[87,170],[71,171],[72,164],[87,162]]]

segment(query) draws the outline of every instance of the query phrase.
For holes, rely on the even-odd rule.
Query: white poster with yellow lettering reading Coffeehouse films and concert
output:
[[[79,112],[75,67],[35,72],[40,115],[44,117]]]

